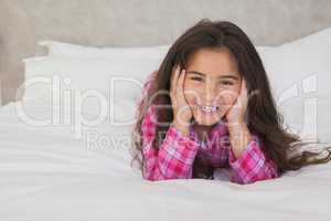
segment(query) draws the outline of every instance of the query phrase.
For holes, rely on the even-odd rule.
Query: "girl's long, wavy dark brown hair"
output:
[[[286,170],[297,170],[307,165],[330,161],[330,147],[322,148],[322,150],[328,151],[324,157],[320,157],[323,151],[298,151],[305,145],[309,145],[310,141],[301,140],[299,136],[284,128],[284,119],[277,110],[263,62],[245,32],[228,21],[212,22],[204,19],[185,31],[170,48],[156,73],[153,86],[150,87],[140,103],[137,112],[137,123],[132,133],[132,162],[138,161],[143,172],[141,123],[150,105],[166,104],[171,106],[169,95],[160,94],[157,99],[153,97],[153,101],[151,101],[151,97],[161,91],[169,92],[170,76],[174,66],[185,67],[191,55],[197,50],[224,48],[228,49],[234,55],[239,74],[247,82],[248,94],[259,92],[257,95],[249,97],[247,126],[249,131],[256,134],[264,143],[264,152],[276,162],[278,173],[281,175]],[[157,136],[153,140],[153,148],[156,149],[159,148],[160,141],[164,138],[166,131],[173,119],[172,109],[158,109],[157,119],[158,123],[163,124],[158,124],[156,128]],[[293,152],[299,154],[293,155]],[[213,168],[196,157],[193,164],[193,178],[211,178]]]

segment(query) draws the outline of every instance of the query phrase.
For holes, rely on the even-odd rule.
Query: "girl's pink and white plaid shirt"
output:
[[[151,84],[152,77],[145,84],[145,92]],[[260,148],[263,143],[255,135],[252,135],[253,140],[236,159],[228,141],[227,127],[223,122],[213,127],[206,144],[199,141],[192,126],[190,126],[190,136],[185,137],[171,125],[158,150],[152,146],[156,137],[156,109],[151,106],[141,125],[145,179],[152,181],[190,179],[193,161],[197,155],[214,168],[229,169],[231,181],[239,185],[278,177],[276,164],[266,158]]]

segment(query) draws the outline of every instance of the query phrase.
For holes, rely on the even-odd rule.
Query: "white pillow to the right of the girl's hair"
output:
[[[331,140],[331,28],[261,52],[285,122],[302,137]]]

